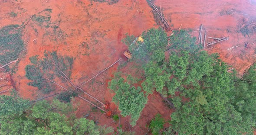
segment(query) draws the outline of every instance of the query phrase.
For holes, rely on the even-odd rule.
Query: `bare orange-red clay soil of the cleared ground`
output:
[[[246,22],[256,21],[255,0],[155,0],[154,3],[161,6],[165,18],[173,25],[172,29],[178,29],[182,24],[182,29],[192,29],[191,35],[198,37],[198,29],[203,24],[207,37],[229,36],[228,41],[212,45],[213,48],[207,47],[206,50],[210,54],[220,54],[220,58],[234,67],[240,75],[255,60],[255,34],[248,38],[235,30]],[[30,100],[45,96],[36,87],[27,85],[30,80],[26,79],[24,69],[30,64],[31,56],[41,57],[46,50],[74,57],[71,80],[79,85],[119,58],[122,58],[120,63],[126,61],[122,53],[128,47],[121,42],[125,33],[138,36],[147,29],[158,27],[146,0],[119,0],[112,5],[92,0],[1,0],[0,28],[10,24],[21,25],[34,14],[42,15],[44,12],[40,12],[45,9],[52,9],[52,13],[49,13],[50,27],[31,19],[23,28],[26,56],[20,60],[16,74],[12,75],[16,90],[22,97]],[[11,12],[17,13],[17,16],[11,17]],[[57,32],[53,29],[54,26],[58,26]],[[210,41],[207,39],[207,42]],[[227,51],[234,45],[239,47]],[[85,84],[83,90],[105,103],[111,103],[114,93],[107,88],[107,84],[117,68],[118,64],[114,65]],[[99,125],[113,126],[115,129],[119,125],[79,98],[75,98],[73,104],[77,108],[75,113],[78,117],[90,113],[87,118],[97,121]],[[113,103],[110,104],[110,110],[112,113],[119,113]],[[165,120],[170,120],[172,112],[158,94],[149,95],[148,104],[137,125],[131,130],[137,135],[144,135],[148,131],[146,125],[157,113]],[[128,120],[129,117],[121,118],[123,129]],[[126,128],[126,131],[129,129]]]

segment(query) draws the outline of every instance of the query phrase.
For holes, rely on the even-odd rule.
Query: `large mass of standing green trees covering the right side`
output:
[[[121,115],[130,115],[136,121],[147,100],[141,95],[141,100],[137,101],[140,93],[158,92],[172,97],[174,113],[170,114],[171,126],[164,131],[161,131],[163,121],[159,116],[152,120],[151,129],[155,135],[159,130],[167,135],[253,135],[256,64],[238,78],[235,72],[227,72],[228,66],[217,54],[202,51],[196,38],[185,30],[174,31],[168,37],[161,29],[150,29],[143,32],[142,38],[141,46],[129,46],[130,51],[134,51],[133,59],[144,70],[142,88],[134,88],[136,94],[132,93],[134,84],[128,77],[127,81],[119,77],[109,83]],[[130,105],[140,106],[139,110]]]

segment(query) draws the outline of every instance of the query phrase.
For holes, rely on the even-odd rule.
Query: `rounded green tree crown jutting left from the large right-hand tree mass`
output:
[[[128,82],[134,82],[129,76]],[[147,103],[147,96],[141,91],[141,87],[134,87],[125,82],[124,78],[113,79],[109,82],[109,88],[115,92],[113,102],[118,104],[122,116],[131,116],[131,125],[136,125],[140,113]]]

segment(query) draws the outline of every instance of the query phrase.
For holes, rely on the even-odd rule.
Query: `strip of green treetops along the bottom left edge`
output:
[[[105,135],[113,132],[85,118],[72,116],[70,103],[41,100],[31,105],[17,96],[0,96],[0,135]],[[9,107],[8,107],[9,106]],[[3,108],[3,109],[2,109]]]

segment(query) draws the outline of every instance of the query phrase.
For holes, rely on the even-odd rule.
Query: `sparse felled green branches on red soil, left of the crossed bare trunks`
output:
[[[30,57],[30,61],[32,64],[26,65],[25,68],[26,77],[32,80],[28,85],[38,87],[42,93],[50,93],[55,90],[54,84],[49,82],[49,80],[53,80],[57,77],[59,80],[62,80],[62,82],[66,82],[66,79],[70,78],[73,64],[72,57],[59,56],[56,51],[45,51],[44,58],[39,59],[36,55]],[[67,102],[68,99],[69,98],[65,98]]]

